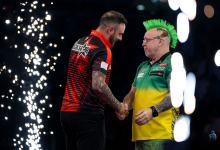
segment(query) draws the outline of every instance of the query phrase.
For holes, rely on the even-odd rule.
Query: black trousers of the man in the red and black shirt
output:
[[[66,150],[104,150],[105,117],[61,111],[60,121],[65,134]]]

